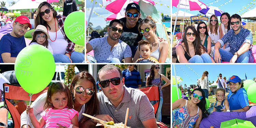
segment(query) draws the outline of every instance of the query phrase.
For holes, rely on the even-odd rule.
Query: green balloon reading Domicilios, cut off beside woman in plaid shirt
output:
[[[70,13],[64,21],[64,31],[67,37],[75,44],[85,44],[85,16],[84,12]],[[80,17],[81,20],[74,20]]]

